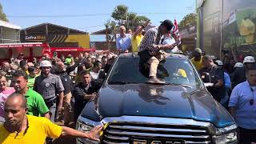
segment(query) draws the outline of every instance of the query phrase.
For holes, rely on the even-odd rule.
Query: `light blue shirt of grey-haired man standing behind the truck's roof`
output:
[[[124,35],[123,38],[119,35],[116,39],[116,45],[117,49],[127,50],[131,46],[130,34]]]

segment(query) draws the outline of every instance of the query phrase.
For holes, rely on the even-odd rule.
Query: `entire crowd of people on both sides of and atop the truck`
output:
[[[164,52],[178,52],[171,34],[174,25],[165,20],[158,27],[136,26],[134,33],[126,34],[120,26],[116,40],[119,53],[138,52],[141,71],[149,69],[150,83],[163,83],[157,78],[158,64]],[[164,52],[159,53],[160,50]],[[0,143],[43,143],[46,137],[74,136],[98,140],[102,126],[90,133],[82,133],[66,126],[76,122],[86,103],[95,98],[116,54],[85,53],[78,57],[47,55],[27,62],[22,54],[10,62],[2,62],[0,70]],[[214,99],[230,111],[240,130],[242,143],[256,142],[256,63],[252,56],[234,66],[203,54],[196,48],[191,62],[194,64],[207,90]],[[146,65],[147,66],[146,66]],[[146,66],[146,67],[145,67]],[[231,67],[231,68],[230,68]],[[256,99],[256,98],[255,98]],[[45,117],[45,118],[42,118]],[[64,122],[65,126],[54,122]],[[39,130],[39,131],[38,131]],[[26,138],[23,138],[24,135]],[[34,133],[34,134],[32,134]],[[37,133],[37,137],[35,136]],[[51,142],[49,139],[47,142]]]

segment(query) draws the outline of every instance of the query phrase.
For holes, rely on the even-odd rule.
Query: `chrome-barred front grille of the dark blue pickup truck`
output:
[[[104,130],[102,143],[195,144],[212,143],[205,127],[143,123],[110,123]]]

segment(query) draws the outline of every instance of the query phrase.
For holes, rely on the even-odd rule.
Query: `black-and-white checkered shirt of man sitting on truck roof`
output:
[[[142,39],[142,42],[139,46],[138,51],[143,51],[143,50],[149,50],[149,53],[151,55],[156,55],[158,54],[158,51],[160,50],[158,45],[161,39],[161,34],[158,32],[157,27],[153,27],[150,30],[148,30]]]

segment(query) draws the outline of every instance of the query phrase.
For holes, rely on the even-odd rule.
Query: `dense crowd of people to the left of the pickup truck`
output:
[[[50,143],[51,138],[61,136],[98,140],[102,126],[90,133],[66,126],[75,123],[86,102],[96,96],[116,57],[113,53],[85,53],[78,58],[69,54],[66,58],[46,56],[34,62],[22,57],[2,62],[0,143]],[[55,122],[64,122],[64,126]],[[26,138],[22,138],[24,134]]]

